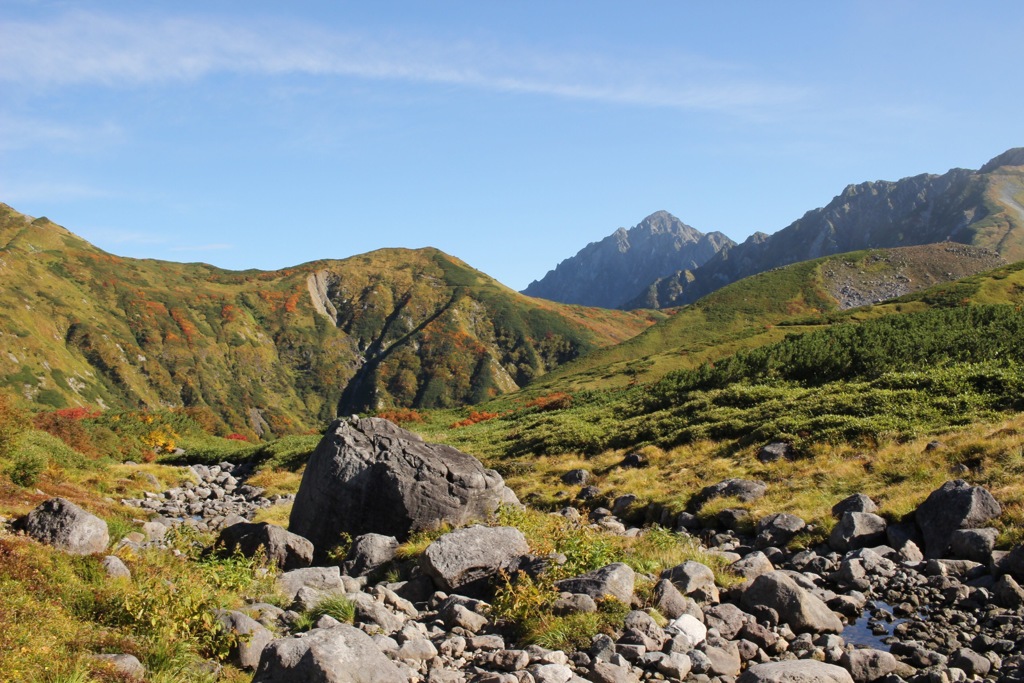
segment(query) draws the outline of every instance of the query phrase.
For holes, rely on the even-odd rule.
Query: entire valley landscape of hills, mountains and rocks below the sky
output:
[[[1024,680],[1022,162],[559,266],[703,250],[633,310],[0,205],[0,677]]]

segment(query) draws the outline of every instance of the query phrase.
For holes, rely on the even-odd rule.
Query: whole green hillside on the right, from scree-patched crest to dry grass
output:
[[[1019,422],[1024,410],[1024,261],[843,308],[857,287],[900,282],[894,267],[927,282],[925,256],[945,250],[979,264],[995,258],[943,244],[761,273],[481,405],[485,420],[464,425],[436,415],[420,429],[486,457],[520,496],[542,495],[535,502],[564,495],[557,474],[584,466],[607,474],[609,496],[639,489],[646,500],[685,500],[711,477],[757,475],[764,468],[753,456],[772,442],[812,456],[801,460],[800,476],[813,478],[791,483],[794,490],[806,483],[812,496],[830,476],[820,469],[825,454],[835,451],[836,463],[853,467],[870,460],[867,454],[892,453],[891,444],[911,444],[894,446],[903,456],[920,454],[914,449],[928,440],[964,430],[973,434],[971,445],[939,460],[948,455],[955,461],[948,466],[965,468],[956,471],[981,472],[987,465],[978,454],[1009,447],[992,457],[1013,459],[1020,471],[1019,425],[992,425]],[[1004,437],[1011,445],[992,445]],[[618,465],[637,451],[649,467],[633,476]],[[828,463],[826,470],[836,465]],[[854,479],[870,479],[881,492],[916,476],[904,461],[892,470],[874,467],[865,464]],[[834,474],[840,489],[861,485]]]

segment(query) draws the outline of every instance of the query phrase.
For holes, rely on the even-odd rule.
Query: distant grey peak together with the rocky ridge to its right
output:
[[[668,232],[658,229],[662,225],[672,225],[692,246],[647,248]],[[718,232],[703,236],[658,212],[629,231],[620,228],[588,245],[523,292],[575,302],[582,293],[596,290],[602,303],[595,305],[665,308],[692,303],[729,283],[790,263],[940,242],[984,247],[1009,260],[1024,258],[1024,147],[1010,150],[977,171],[952,169],[849,185],[823,208],[773,234],[755,232],[738,245]],[[645,248],[631,249],[632,243]]]

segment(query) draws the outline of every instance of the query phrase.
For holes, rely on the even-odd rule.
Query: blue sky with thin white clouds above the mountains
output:
[[[521,289],[1024,145],[1024,3],[0,0],[0,202],[125,256],[433,246]]]

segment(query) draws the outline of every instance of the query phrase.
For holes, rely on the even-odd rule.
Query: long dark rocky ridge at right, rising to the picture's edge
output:
[[[991,249],[1011,261],[1024,258],[1024,148],[979,171],[849,185],[774,234],[754,234],[692,272],[654,282],[626,307],[692,303],[758,272],[831,254],[941,242]]]

